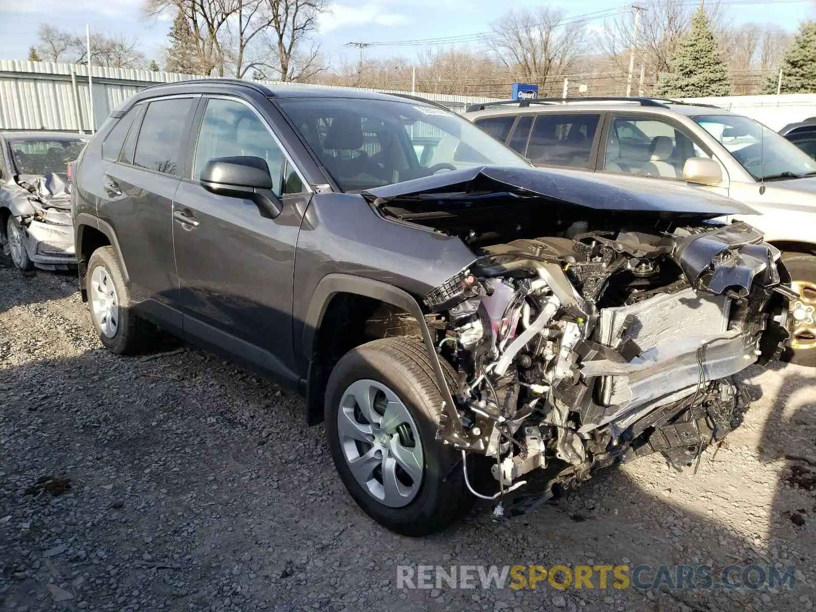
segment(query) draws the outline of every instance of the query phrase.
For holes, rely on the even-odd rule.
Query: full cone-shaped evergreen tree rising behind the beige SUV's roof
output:
[[[691,29],[677,46],[669,65],[672,72],[660,75],[657,95],[697,98],[730,94],[728,68],[702,7],[692,16]]]

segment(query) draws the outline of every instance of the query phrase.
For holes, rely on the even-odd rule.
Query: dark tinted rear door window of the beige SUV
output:
[[[587,169],[600,121],[601,115],[540,114],[530,133],[527,157],[541,166]]]

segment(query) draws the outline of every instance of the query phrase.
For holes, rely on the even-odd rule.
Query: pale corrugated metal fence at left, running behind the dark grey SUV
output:
[[[143,87],[158,82],[179,82],[191,78],[197,77],[189,74],[91,66],[95,126],[102,125],[113,109],[118,108]],[[280,83],[259,82],[268,85]],[[456,112],[462,112],[468,104],[494,100],[469,95],[420,92],[415,95],[445,104]],[[90,117],[85,65],[0,60],[0,129],[90,131]]]

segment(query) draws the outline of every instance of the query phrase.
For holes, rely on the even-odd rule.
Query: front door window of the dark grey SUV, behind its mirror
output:
[[[264,122],[246,104],[234,100],[208,100],[198,132],[193,177],[198,179],[202,168],[211,159],[241,156],[263,159],[272,175],[273,191],[281,195],[284,158]],[[287,176],[287,186],[289,178]],[[299,191],[302,190],[301,185]]]

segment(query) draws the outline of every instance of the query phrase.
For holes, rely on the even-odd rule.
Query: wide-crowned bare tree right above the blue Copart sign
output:
[[[508,12],[493,24],[493,33],[484,42],[512,75],[549,91],[557,85],[548,77],[570,72],[584,38],[583,24],[566,21],[562,11],[541,7]]]

